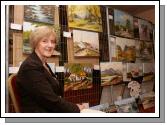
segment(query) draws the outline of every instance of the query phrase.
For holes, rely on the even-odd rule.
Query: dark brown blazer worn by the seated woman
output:
[[[33,52],[20,66],[16,87],[21,96],[22,112],[80,112],[78,106],[64,100],[62,89],[54,73],[44,68]]]

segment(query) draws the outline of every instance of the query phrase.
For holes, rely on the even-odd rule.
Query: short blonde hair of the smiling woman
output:
[[[35,30],[31,32],[30,37],[29,37],[31,48],[35,50],[36,46],[38,45],[38,42],[42,38],[48,37],[50,35],[53,35],[56,41],[56,32],[54,31],[54,28],[49,27],[49,26],[37,27]]]

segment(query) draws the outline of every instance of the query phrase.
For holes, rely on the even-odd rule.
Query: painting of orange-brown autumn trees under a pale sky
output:
[[[116,37],[116,61],[135,62],[135,40]]]

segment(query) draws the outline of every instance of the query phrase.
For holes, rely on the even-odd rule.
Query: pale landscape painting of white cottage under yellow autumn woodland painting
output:
[[[73,30],[74,56],[99,56],[98,33]]]

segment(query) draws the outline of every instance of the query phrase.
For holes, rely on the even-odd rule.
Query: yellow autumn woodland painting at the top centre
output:
[[[69,5],[68,26],[102,32],[102,20],[98,5]]]

